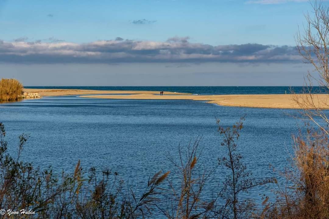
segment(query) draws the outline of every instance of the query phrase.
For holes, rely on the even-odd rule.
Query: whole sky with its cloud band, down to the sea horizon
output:
[[[25,86],[302,85],[311,66],[294,35],[308,11],[304,0],[0,0],[0,77]]]

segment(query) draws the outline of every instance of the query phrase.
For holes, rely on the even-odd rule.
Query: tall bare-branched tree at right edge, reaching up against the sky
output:
[[[312,14],[305,14],[306,25],[298,30],[295,41],[303,62],[311,64],[314,70],[308,72],[302,94],[292,91],[292,99],[302,109],[302,119],[313,121],[328,135],[329,119],[323,108],[329,108],[329,8],[321,1],[311,6]]]

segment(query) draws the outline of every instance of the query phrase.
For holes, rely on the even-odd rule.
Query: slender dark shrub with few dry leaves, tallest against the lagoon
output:
[[[226,201],[219,211],[221,218],[252,218],[257,213],[253,199],[240,200],[239,194],[257,186],[275,182],[274,178],[264,180],[252,178],[252,173],[248,172],[246,165],[242,163],[242,155],[238,152],[236,141],[240,137],[239,132],[243,128],[243,121],[244,117],[232,127],[223,127],[220,125],[220,120],[217,120],[218,132],[223,136],[221,146],[227,151],[227,155],[218,158],[218,162],[230,172],[219,192],[219,196]]]

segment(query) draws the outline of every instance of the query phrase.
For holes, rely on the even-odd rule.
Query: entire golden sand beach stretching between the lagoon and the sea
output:
[[[24,91],[38,93],[40,96],[81,95],[81,98],[97,99],[181,99],[206,101],[207,103],[215,103],[220,106],[300,109],[300,107],[292,100],[292,94],[192,95],[186,93],[164,92],[164,95],[160,96],[160,91],[101,91],[77,89],[24,89]],[[329,109],[329,95],[317,94],[315,96],[315,104],[318,105],[319,108]],[[307,96],[304,95],[303,97],[302,95],[300,98],[307,98]]]

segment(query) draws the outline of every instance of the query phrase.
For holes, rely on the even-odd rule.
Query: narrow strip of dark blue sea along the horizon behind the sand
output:
[[[26,88],[42,88],[42,89],[88,89],[88,90],[131,90],[131,91],[171,91],[180,93],[191,93],[200,95],[213,94],[285,94],[290,93],[291,89],[296,93],[300,93],[303,87],[287,87],[287,86],[194,86],[194,87],[175,87],[175,86],[130,86],[130,87],[107,87],[107,86],[46,86],[46,87],[26,87]],[[314,88],[317,90],[316,88]]]

